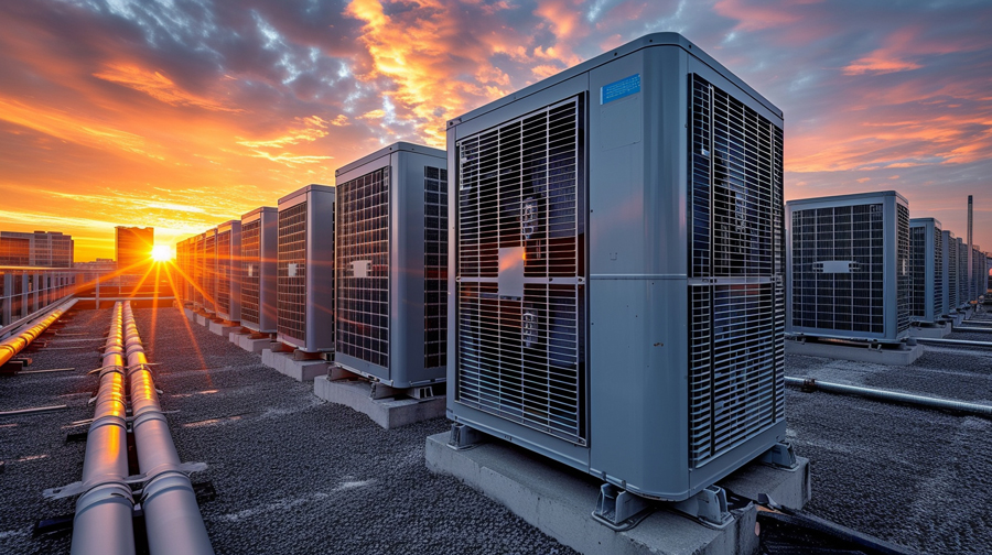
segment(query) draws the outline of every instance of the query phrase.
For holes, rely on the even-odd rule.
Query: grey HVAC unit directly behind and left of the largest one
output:
[[[334,361],[393,388],[445,378],[446,168],[399,142],[336,172]]]

